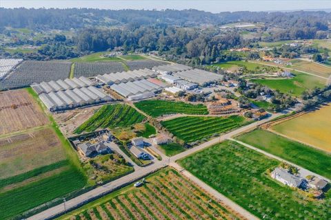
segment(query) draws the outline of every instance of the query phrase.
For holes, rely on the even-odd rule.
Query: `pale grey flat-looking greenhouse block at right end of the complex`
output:
[[[183,72],[176,72],[173,76],[177,76],[191,83],[198,83],[199,85],[208,85],[223,80],[223,75],[214,74],[202,69],[189,69]]]

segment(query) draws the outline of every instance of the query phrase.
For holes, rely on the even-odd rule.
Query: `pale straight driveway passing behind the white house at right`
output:
[[[293,164],[292,162],[289,162],[289,161],[287,161],[287,160],[285,160],[285,159],[282,159],[281,157],[277,157],[277,156],[275,156],[275,155],[272,155],[271,153],[268,153],[268,152],[262,151],[260,148],[257,148],[257,147],[255,147],[255,146],[252,146],[252,145],[250,145],[250,144],[245,144],[244,142],[241,142],[241,141],[239,141],[239,140],[235,140],[235,139],[233,139],[233,138],[231,138],[231,137],[229,137],[228,140],[232,140],[232,141],[234,141],[234,142],[237,142],[237,143],[239,143],[239,144],[241,144],[241,145],[243,145],[243,146],[246,146],[246,147],[248,147],[248,148],[251,148],[251,149],[254,150],[254,151],[258,151],[259,153],[263,153],[264,155],[266,155],[266,156],[268,156],[268,157],[272,157],[272,158],[274,158],[274,159],[277,159],[277,160],[279,160],[279,161],[281,161],[281,162],[285,162],[285,163],[287,163],[287,164],[291,164],[292,166],[297,166],[297,168],[299,168],[299,173],[300,173],[300,175],[301,175],[302,178],[305,178],[305,177],[307,177],[308,175],[314,175],[315,177],[319,177],[319,178],[321,178],[321,179],[325,179],[326,181],[330,182],[330,179],[328,179],[328,178],[326,178],[326,177],[323,177],[323,176],[321,176],[321,175],[318,175],[317,173],[314,173],[314,172],[312,172],[312,171],[310,171],[310,170],[307,170],[307,169],[305,169],[305,168],[303,168],[303,167],[301,167],[301,166],[298,166],[297,164]]]

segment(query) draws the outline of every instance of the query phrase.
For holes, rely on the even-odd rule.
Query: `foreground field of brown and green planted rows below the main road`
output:
[[[174,170],[147,180],[70,213],[70,219],[240,219]]]

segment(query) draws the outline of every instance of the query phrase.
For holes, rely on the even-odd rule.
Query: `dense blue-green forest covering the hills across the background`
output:
[[[72,36],[58,34],[36,42],[15,42],[19,45],[42,47],[31,54],[6,54],[32,59],[65,59],[113,50],[124,52],[158,51],[170,60],[181,59],[192,65],[214,61],[238,60],[237,54],[225,53],[233,47],[250,46],[257,41],[289,39],[324,39],[328,36],[327,12],[221,12],[213,14],[199,10],[97,10],[97,9],[5,9],[0,8],[0,32],[10,34],[12,28],[38,30],[70,30]],[[237,30],[219,28],[201,30],[202,25],[222,25],[230,22],[262,22],[266,36],[244,40]],[[98,28],[92,28],[98,27]],[[312,49],[313,50],[313,49]],[[298,51],[284,47],[285,57],[295,57]],[[257,54],[250,54],[253,56]]]

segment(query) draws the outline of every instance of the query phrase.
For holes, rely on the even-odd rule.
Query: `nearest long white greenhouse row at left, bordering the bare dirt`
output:
[[[92,86],[56,92],[51,91],[48,94],[40,94],[39,98],[50,111],[63,111],[113,100],[112,97]]]

